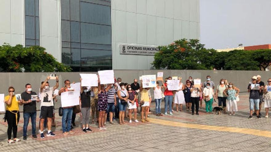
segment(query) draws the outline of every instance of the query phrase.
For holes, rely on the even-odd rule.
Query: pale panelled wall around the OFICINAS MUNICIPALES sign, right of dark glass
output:
[[[150,69],[153,56],[120,55],[119,44],[168,45],[200,38],[199,0],[112,0],[112,68]]]

